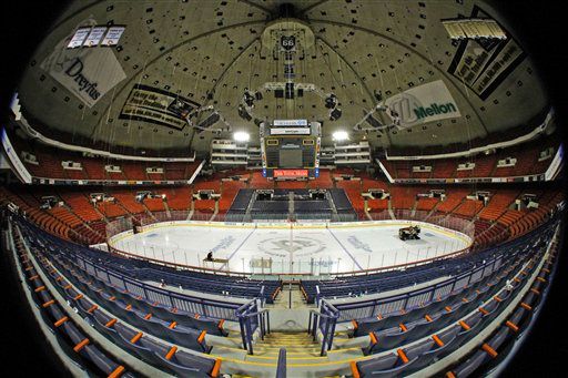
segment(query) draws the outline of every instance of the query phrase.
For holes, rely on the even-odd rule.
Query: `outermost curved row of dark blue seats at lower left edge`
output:
[[[85,376],[109,376],[109,377],[134,377],[123,365],[120,365],[113,357],[102,350],[94,341],[87,337],[80,326],[72,320],[70,307],[67,303],[60,303],[53,293],[47,287],[39,276],[39,272],[27,255],[24,245],[14,233],[17,248],[17,262],[21,267],[29,287],[34,305],[43,319],[43,325],[58,340],[59,346],[77,365]],[[42,260],[44,269],[49,269],[49,263]],[[58,282],[68,284],[63,277],[57,277]],[[74,296],[78,297],[77,295]]]

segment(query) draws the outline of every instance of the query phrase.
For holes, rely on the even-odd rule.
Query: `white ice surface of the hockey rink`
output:
[[[252,274],[336,274],[439,257],[464,249],[469,236],[426,223],[420,238],[400,241],[405,221],[337,224],[171,222],[125,232],[110,244],[123,252],[175,264]],[[205,257],[213,253],[214,259]],[[226,262],[225,262],[226,260]]]

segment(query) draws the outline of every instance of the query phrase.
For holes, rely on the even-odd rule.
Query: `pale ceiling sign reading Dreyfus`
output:
[[[67,49],[72,38],[70,34],[61,40],[40,67],[85,105],[92,108],[124,80],[126,74],[111,49]]]

